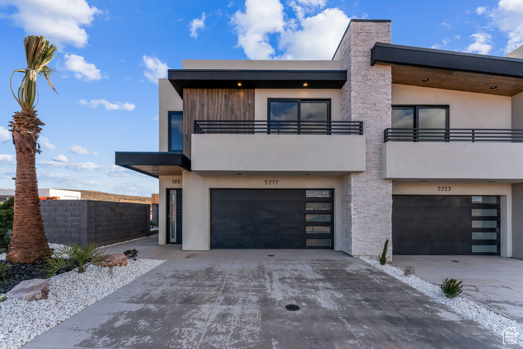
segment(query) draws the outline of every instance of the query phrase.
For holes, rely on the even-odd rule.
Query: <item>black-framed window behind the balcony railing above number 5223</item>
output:
[[[407,129],[404,137],[401,133],[397,137],[404,140],[435,140],[446,136],[449,128],[448,105],[417,105],[392,106],[392,128]],[[410,129],[442,129],[443,131],[417,131]],[[401,131],[401,130],[400,130]]]

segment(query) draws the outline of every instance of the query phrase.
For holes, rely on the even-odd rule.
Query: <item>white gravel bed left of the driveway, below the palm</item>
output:
[[[49,244],[53,247],[53,244]],[[0,255],[0,259],[5,254]],[[39,301],[7,299],[0,303],[0,349],[14,349],[69,319],[135,278],[164,263],[159,260],[129,260],[127,266],[55,275],[49,280],[49,298]]]

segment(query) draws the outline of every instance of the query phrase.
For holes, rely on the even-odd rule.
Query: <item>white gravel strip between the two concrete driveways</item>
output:
[[[428,283],[414,275],[404,276],[403,271],[400,268],[396,268],[388,264],[380,265],[378,261],[370,260],[369,258],[360,257],[360,259],[369,264],[372,264],[378,269],[381,269],[383,272],[395,277],[401,282],[414,287],[423,294],[434,298],[438,302],[443,303],[447,307],[462,314],[463,316],[484,325],[497,334],[501,334],[502,331],[509,327],[514,327],[516,332],[519,333],[519,335],[516,337],[516,343],[520,346],[523,346],[523,324],[499,315],[498,313],[488,310],[483,306],[477,305],[473,301],[466,298],[447,298],[441,292],[439,286]]]

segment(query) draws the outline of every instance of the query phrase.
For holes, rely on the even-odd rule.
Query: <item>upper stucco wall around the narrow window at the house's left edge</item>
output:
[[[167,151],[169,137],[168,112],[184,110],[183,100],[168,79],[158,79],[158,97],[159,151]]]

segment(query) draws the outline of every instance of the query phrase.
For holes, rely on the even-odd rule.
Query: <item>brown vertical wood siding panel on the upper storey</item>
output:
[[[188,157],[195,120],[254,120],[254,89],[184,88],[184,154]]]

